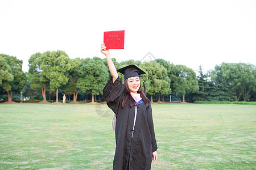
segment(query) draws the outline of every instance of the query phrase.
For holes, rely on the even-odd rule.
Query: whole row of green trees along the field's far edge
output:
[[[180,96],[183,102],[200,101],[255,101],[256,69],[250,63],[221,63],[206,74],[199,67],[199,75],[184,65],[174,65],[164,59],[150,62],[127,60],[117,62],[112,59],[116,69],[135,64],[147,74],[141,75],[144,80],[148,98],[153,96]],[[56,94],[59,90],[73,95],[77,101],[79,92],[102,95],[102,90],[111,74],[105,58],[69,58],[64,51],[47,51],[32,54],[28,59],[28,73],[22,71],[22,60],[7,54],[0,54],[0,98],[7,94],[8,101],[14,94],[42,96],[47,102],[47,94]],[[118,73],[123,80],[123,75]],[[47,93],[48,92],[48,93]],[[31,97],[30,97],[31,96]],[[50,96],[49,96],[50,97]],[[186,97],[186,99],[185,99]]]

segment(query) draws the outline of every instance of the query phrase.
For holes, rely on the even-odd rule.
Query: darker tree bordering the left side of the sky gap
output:
[[[8,101],[10,102],[11,100],[13,100],[13,92],[19,93],[20,90],[23,89],[26,83],[26,76],[22,71],[22,60],[19,60],[14,56],[8,56],[6,54],[1,54],[1,56],[5,58],[7,65],[9,65],[11,69],[11,74],[13,75],[13,80],[5,81],[2,86],[7,91]],[[7,68],[7,70],[10,69]],[[7,74],[7,78],[9,80],[11,79],[9,74]]]

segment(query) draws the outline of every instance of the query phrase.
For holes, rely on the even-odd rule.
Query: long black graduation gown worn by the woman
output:
[[[152,152],[158,148],[151,105],[150,108],[147,108],[145,103],[134,105],[132,108],[127,105],[123,109],[123,89],[122,80],[118,76],[114,83],[111,77],[103,90],[104,100],[117,117],[113,169],[150,169]],[[137,118],[133,130],[135,107]]]

